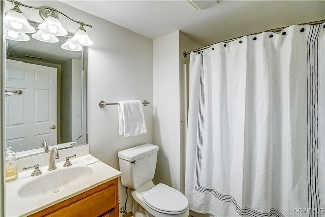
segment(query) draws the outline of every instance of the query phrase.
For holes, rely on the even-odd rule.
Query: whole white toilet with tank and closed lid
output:
[[[159,147],[144,144],[118,152],[121,181],[131,188],[133,216],[188,217],[188,200],[178,190],[165,184],[154,185]]]

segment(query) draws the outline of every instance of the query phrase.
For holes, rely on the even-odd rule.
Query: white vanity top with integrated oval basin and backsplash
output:
[[[60,150],[61,156],[77,154],[83,157],[89,154],[89,146],[82,145]],[[63,167],[64,159],[56,161],[56,170],[48,171],[48,154],[18,160],[22,169],[36,163],[43,166],[39,176],[30,176],[32,169],[21,171],[16,181],[6,182],[5,216],[29,216],[64,200],[82,194],[90,189],[113,180],[121,172],[98,161],[85,165],[79,158],[72,158],[70,167]],[[19,208],[17,207],[17,204]]]

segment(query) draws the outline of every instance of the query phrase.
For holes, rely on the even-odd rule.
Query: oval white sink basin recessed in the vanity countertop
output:
[[[71,167],[54,170],[45,175],[33,177],[31,181],[24,184],[18,191],[23,198],[43,197],[54,194],[71,185],[82,182],[92,175],[90,167]]]

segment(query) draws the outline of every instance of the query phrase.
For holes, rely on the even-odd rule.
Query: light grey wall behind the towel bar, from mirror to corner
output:
[[[88,16],[84,16],[85,18]],[[101,19],[91,19],[96,29],[88,56],[88,142],[90,153],[119,169],[117,153],[143,143],[152,143],[152,40]],[[117,106],[100,108],[98,102],[148,100],[144,106],[147,133],[127,137],[118,133]],[[120,206],[125,189],[120,183]],[[129,198],[132,198],[129,195]],[[131,210],[132,200],[127,210]]]

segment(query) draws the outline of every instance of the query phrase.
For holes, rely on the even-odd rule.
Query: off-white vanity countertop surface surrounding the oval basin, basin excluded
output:
[[[28,216],[36,213],[42,209],[50,207],[63,200],[69,199],[75,195],[85,192],[89,189],[97,187],[107,181],[117,178],[121,175],[121,172],[108,166],[107,164],[99,161],[86,166],[78,158],[70,159],[72,166],[63,167],[64,161],[56,162],[57,169],[48,171],[47,166],[40,167],[42,174],[32,177],[32,169],[19,172],[18,179],[6,183],[6,216]],[[89,167],[93,169],[93,173],[81,180],[67,187],[60,189],[58,192],[51,193],[45,196],[34,197],[21,197],[19,196],[19,190],[27,183],[34,181],[37,178],[45,176],[50,173],[54,173],[59,170],[66,170],[72,167]],[[43,183],[46,185],[47,183]]]

